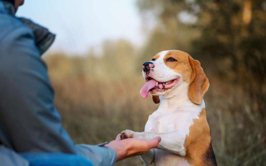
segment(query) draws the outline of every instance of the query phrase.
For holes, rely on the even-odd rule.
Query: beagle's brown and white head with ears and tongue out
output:
[[[167,96],[182,84],[188,84],[188,97],[195,104],[201,104],[209,88],[209,80],[200,62],[179,50],[162,51],[152,61],[145,62],[143,77],[146,84],[140,90],[142,97],[150,93],[154,103],[159,103],[159,95]]]

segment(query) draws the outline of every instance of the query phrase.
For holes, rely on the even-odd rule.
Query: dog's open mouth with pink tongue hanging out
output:
[[[146,81],[146,84],[139,91],[140,95],[144,98],[148,97],[150,91],[165,91],[169,88],[172,88],[176,83],[178,83],[179,77],[176,79],[169,80],[167,82],[158,82],[151,77],[147,77]]]

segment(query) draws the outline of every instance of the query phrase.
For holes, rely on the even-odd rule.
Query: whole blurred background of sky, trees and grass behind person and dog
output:
[[[17,16],[57,37],[44,54],[63,125],[75,143],[143,131],[157,109],[142,63],[178,49],[201,62],[217,163],[266,165],[266,1],[26,0]],[[138,156],[115,165],[143,165]]]

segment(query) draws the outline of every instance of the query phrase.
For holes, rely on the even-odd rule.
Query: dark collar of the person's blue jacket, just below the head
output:
[[[0,0],[0,12],[15,16],[14,5],[10,2]],[[27,25],[27,27],[33,31],[35,36],[35,44],[39,48],[41,54],[43,54],[53,44],[55,35],[49,32],[47,28],[44,28],[29,19],[17,19],[19,19],[23,24]]]

